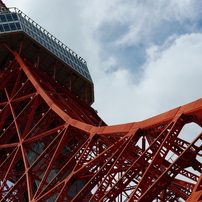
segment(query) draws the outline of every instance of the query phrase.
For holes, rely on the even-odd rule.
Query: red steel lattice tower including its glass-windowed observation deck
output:
[[[0,2],[0,201],[202,201],[202,99],[107,126],[86,62]]]

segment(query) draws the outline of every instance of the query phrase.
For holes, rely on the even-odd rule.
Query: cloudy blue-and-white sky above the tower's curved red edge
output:
[[[201,98],[201,0],[4,0],[83,57],[93,108],[136,122]]]

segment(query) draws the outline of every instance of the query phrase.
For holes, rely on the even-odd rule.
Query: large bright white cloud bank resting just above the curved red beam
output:
[[[200,98],[202,34],[180,36],[155,54],[148,55],[138,85],[127,70],[100,80],[95,106],[107,123],[139,121]]]

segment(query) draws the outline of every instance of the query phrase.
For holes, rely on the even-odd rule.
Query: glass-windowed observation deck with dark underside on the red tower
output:
[[[17,8],[0,11],[0,65],[10,54],[4,44],[81,99],[94,102],[86,61]]]

